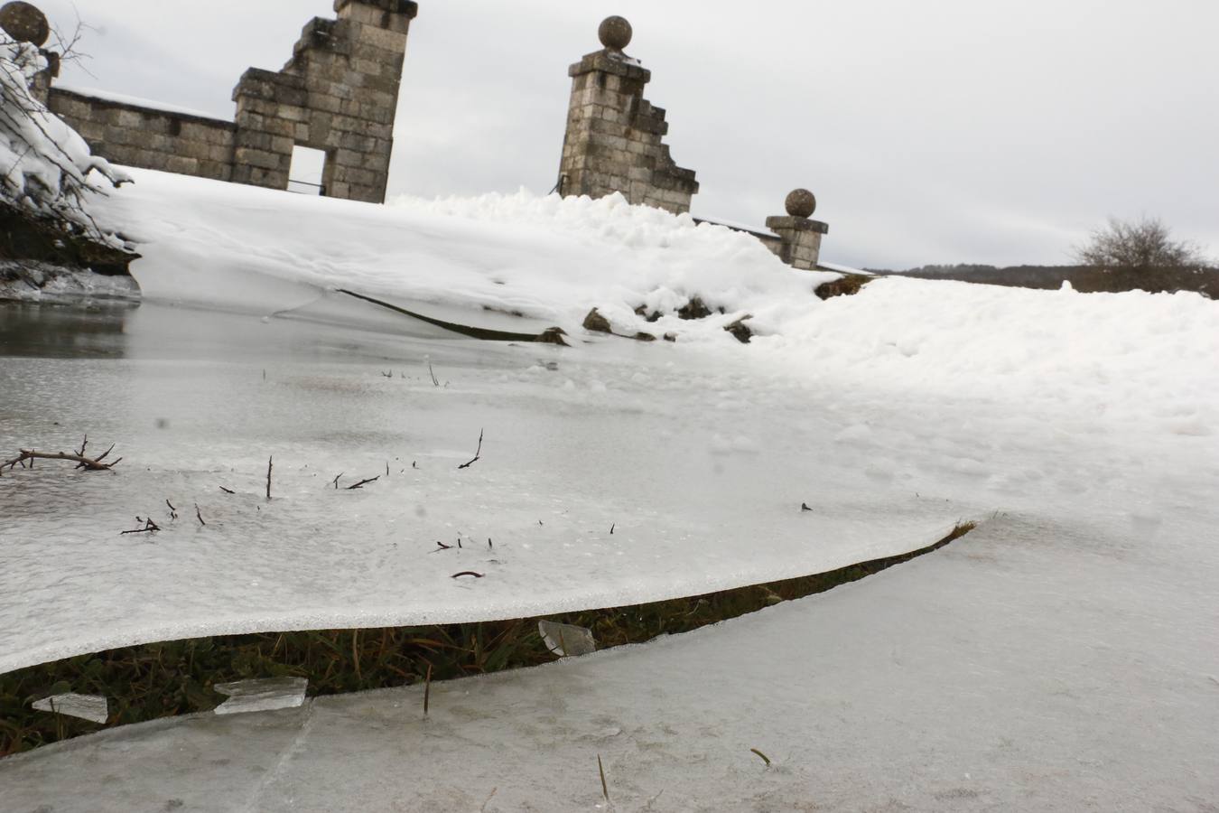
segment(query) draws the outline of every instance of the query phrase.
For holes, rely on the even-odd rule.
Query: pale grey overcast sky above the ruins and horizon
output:
[[[66,0],[37,0],[61,27]],[[65,83],[232,116],[330,0],[76,0]],[[421,0],[390,193],[545,193],[567,66],[631,21],[694,213],[761,225],[794,186],[857,266],[1063,263],[1106,216],[1219,254],[1214,0]]]

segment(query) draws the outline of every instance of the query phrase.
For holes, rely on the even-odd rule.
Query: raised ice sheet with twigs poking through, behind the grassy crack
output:
[[[903,553],[980,511],[814,452],[836,407],[755,379],[745,352],[422,341],[155,305],[0,318],[0,449],[88,433],[123,457],[0,478],[0,672],[697,595]],[[121,536],[135,517],[163,530]]]

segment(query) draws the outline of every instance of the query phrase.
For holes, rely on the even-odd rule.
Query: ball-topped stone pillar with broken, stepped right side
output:
[[[568,69],[572,99],[560,194],[602,197],[618,191],[631,204],[689,212],[698,182],[694,169],[677,166],[663,143],[669,129],[664,111],[644,99],[651,72],[623,52],[630,23],[610,17],[597,33],[605,50]]]

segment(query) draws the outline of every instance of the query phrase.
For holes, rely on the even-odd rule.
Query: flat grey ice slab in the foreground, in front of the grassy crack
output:
[[[1203,549],[1190,567],[1120,529],[1007,516],[689,635],[435,684],[428,718],[422,686],[196,715],[0,762],[0,786],[22,813],[1210,811]]]

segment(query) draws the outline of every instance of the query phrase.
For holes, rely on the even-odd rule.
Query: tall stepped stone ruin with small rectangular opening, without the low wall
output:
[[[245,72],[236,102],[233,180],[288,188],[295,145],[323,150],[324,193],[385,200],[394,117],[412,0],[334,0],[338,20],[317,17],[282,71]]]

